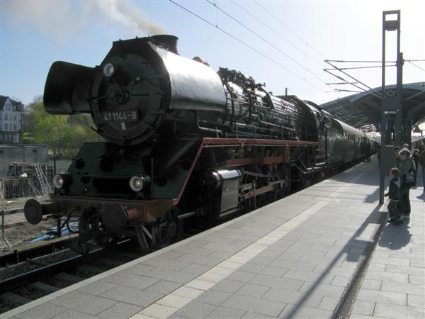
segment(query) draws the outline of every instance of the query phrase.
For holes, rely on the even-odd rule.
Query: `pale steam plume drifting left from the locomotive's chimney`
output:
[[[1,18],[19,26],[33,24],[43,32],[63,41],[90,21],[114,23],[132,35],[166,33],[131,1],[3,1]],[[6,22],[7,23],[7,22]]]

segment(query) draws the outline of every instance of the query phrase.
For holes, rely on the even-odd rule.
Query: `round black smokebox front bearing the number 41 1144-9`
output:
[[[98,133],[118,145],[139,144],[152,136],[164,119],[162,79],[164,74],[142,55],[107,57],[91,89]]]

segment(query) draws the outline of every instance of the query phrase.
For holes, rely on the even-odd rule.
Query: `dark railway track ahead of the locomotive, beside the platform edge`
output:
[[[96,276],[142,256],[124,240],[116,250],[91,247],[89,254],[65,248],[0,269],[0,313]]]

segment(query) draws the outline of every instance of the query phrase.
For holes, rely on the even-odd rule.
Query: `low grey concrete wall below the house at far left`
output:
[[[0,176],[11,162],[47,164],[47,145],[0,145]]]

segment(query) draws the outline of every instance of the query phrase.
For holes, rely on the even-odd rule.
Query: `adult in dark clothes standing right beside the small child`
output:
[[[414,186],[414,161],[411,153],[407,148],[399,152],[401,163],[399,165],[399,179],[402,182],[400,186],[400,201],[398,203],[398,210],[403,219],[410,219],[410,188]]]

